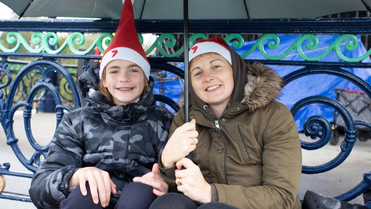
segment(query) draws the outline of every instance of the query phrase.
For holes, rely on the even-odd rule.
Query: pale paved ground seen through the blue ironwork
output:
[[[33,154],[33,148],[27,141],[23,125],[23,111],[17,111],[14,115],[14,130],[16,137],[19,139],[19,147],[26,158]],[[40,145],[46,145],[56,126],[55,113],[35,113],[32,114],[31,130],[34,138]],[[302,140],[312,141],[304,134],[300,134]],[[344,136],[342,136],[344,137]],[[340,138],[342,141],[343,138]],[[302,150],[303,165],[314,166],[327,163],[336,157],[340,152],[340,143],[337,146],[326,145],[320,150],[307,151]],[[306,175],[302,174],[299,188],[299,196],[302,198],[306,190],[313,190],[328,196],[337,196],[356,186],[362,180],[362,174],[371,170],[371,140],[367,142],[356,142],[353,151],[340,166],[322,174]],[[11,171],[27,172],[27,169],[16,158],[9,145],[6,144],[4,130],[0,128],[0,164],[10,163]],[[28,171],[28,173],[31,173]],[[5,191],[28,194],[30,179],[20,177],[6,177]],[[363,204],[361,196],[352,200],[352,203]],[[32,203],[24,203],[13,200],[0,199],[0,208],[22,208],[35,209]]]

